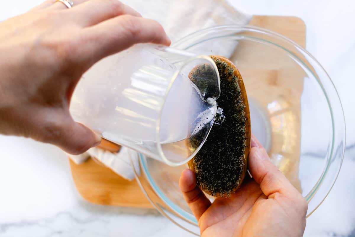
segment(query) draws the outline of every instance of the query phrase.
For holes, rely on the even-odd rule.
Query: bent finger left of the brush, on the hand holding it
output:
[[[196,185],[196,176],[191,169],[185,169],[179,180],[180,190],[193,215],[199,220],[202,214],[211,206],[211,202]]]

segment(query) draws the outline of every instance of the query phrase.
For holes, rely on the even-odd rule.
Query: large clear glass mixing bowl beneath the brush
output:
[[[342,105],[322,66],[291,40],[251,26],[204,29],[172,47],[234,62],[249,98],[252,132],[306,198],[307,216],[311,215],[333,187],[345,149]],[[164,216],[199,235],[197,221],[179,191],[185,168],[140,155],[136,179]]]

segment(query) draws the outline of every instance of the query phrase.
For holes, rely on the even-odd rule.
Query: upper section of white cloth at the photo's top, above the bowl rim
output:
[[[252,16],[236,10],[226,0],[121,0],[158,21],[175,42],[200,29],[220,25],[247,25]]]

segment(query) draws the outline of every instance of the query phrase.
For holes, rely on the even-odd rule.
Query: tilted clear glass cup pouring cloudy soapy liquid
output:
[[[208,80],[193,75],[195,82],[208,83],[208,90],[190,81],[197,68],[208,70]],[[73,93],[70,112],[103,138],[176,166],[206,140],[219,93],[218,69],[209,56],[140,44],[89,69]]]

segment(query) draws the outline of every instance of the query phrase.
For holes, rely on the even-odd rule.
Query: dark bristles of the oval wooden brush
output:
[[[193,158],[197,185],[212,196],[229,196],[241,182],[246,149],[245,104],[241,96],[238,77],[234,68],[219,59],[213,58],[220,76],[220,97],[218,108],[223,109],[224,119],[217,114],[215,123],[201,150]],[[198,75],[199,70],[192,72]],[[199,75],[200,76],[200,75]],[[190,78],[192,82],[193,76]],[[208,79],[207,79],[208,80]],[[201,85],[202,86],[202,85]],[[199,87],[200,88],[200,87]],[[223,122],[220,122],[222,121]],[[220,123],[218,123],[218,121]],[[191,146],[196,146],[201,134],[192,136]]]

